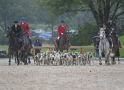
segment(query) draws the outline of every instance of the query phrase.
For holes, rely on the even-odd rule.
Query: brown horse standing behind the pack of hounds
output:
[[[69,34],[68,34],[68,30],[65,29],[62,37],[60,37],[58,48],[57,48],[56,40],[57,40],[57,38],[54,39],[54,45],[56,47],[57,52],[58,52],[58,50],[60,50],[60,52],[63,52],[63,50],[67,50],[67,52],[68,52],[68,50],[69,50]]]

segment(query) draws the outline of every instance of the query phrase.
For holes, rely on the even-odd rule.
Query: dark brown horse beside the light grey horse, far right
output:
[[[120,56],[119,45],[117,44],[118,38],[114,34],[115,28],[116,27],[114,27],[114,26],[110,28],[110,37],[111,37],[112,43],[113,43],[111,60],[112,60],[112,64],[116,64],[115,57],[118,57],[118,64],[120,64],[120,59],[119,59],[119,56]]]

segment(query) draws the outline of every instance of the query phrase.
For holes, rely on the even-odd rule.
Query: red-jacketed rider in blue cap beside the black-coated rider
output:
[[[31,45],[31,47],[32,47],[32,42],[31,42],[31,38],[30,38],[30,34],[29,34],[29,25],[28,25],[27,22],[25,22],[25,18],[24,18],[24,17],[21,18],[21,22],[20,22],[19,25],[20,25],[20,26],[22,27],[22,29],[25,31],[25,35],[28,37],[28,39],[29,39],[29,41],[30,41],[30,45]]]

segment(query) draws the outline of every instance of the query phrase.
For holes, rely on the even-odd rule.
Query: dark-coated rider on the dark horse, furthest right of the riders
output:
[[[118,40],[117,43],[119,44],[120,48],[122,48],[121,43],[120,43],[120,40],[119,40],[118,35],[117,35],[117,27],[116,27],[116,24],[115,24],[115,22],[113,22],[113,18],[110,17],[110,18],[109,18],[109,22],[107,23],[107,27],[110,29],[112,26],[115,26],[115,32],[114,32],[114,34],[115,34],[115,36],[117,37],[117,40]]]

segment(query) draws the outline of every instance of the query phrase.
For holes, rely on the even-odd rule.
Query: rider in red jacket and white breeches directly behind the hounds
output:
[[[57,39],[57,48],[59,47],[59,39],[63,35],[66,25],[64,25],[64,20],[61,21],[61,25],[58,26],[58,39]]]

